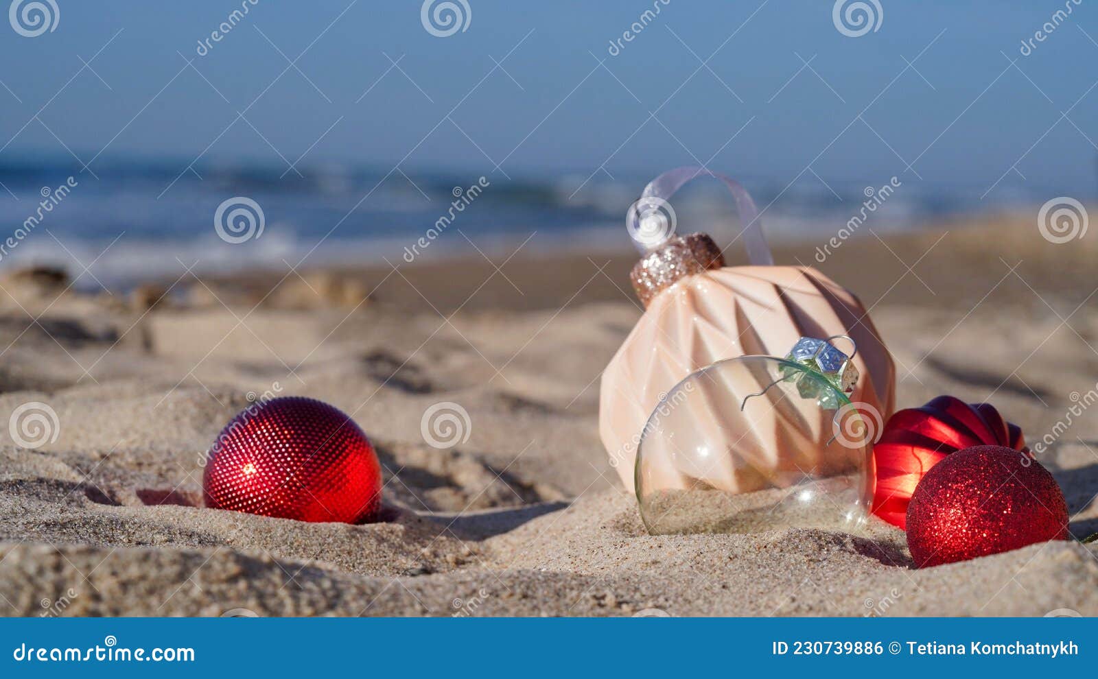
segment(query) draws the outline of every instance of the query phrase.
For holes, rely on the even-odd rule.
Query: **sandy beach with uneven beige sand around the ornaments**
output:
[[[989,400],[1031,446],[1057,431],[1038,460],[1073,535],[1098,532],[1098,419],[1056,428],[1098,381],[1094,240],[1050,244],[1022,214],[866,231],[822,263],[817,245],[778,245],[775,259],[861,297],[899,406],[952,394]],[[648,535],[597,433],[600,373],[641,314],[635,257],[509,254],[180,270],[113,295],[9,272],[0,420],[46,403],[58,435],[34,450],[0,437],[0,613],[1098,614],[1098,553],[1078,540],[916,569],[883,523]],[[330,403],[367,432],[384,521],[202,507],[205,451],[268,392]],[[470,416],[447,450],[421,430],[441,401]]]

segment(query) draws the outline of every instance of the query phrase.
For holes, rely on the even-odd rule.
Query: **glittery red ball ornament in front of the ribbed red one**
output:
[[[1067,535],[1067,503],[1052,474],[1001,445],[945,457],[922,478],[907,508],[907,546],[920,568]]]

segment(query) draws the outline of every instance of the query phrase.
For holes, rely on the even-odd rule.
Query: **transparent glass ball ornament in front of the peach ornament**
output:
[[[873,498],[879,415],[839,386],[762,355],[720,361],[676,384],[637,450],[649,532],[859,532]]]

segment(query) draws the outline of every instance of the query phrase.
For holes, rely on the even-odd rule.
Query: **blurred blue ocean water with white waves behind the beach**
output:
[[[307,269],[386,260],[403,265],[478,252],[496,260],[518,247],[524,256],[621,251],[631,247],[626,212],[651,179],[580,172],[481,178],[344,166],[302,168],[298,177],[261,166],[208,165],[180,172],[183,168],[104,160],[97,162],[93,177],[63,161],[0,166],[0,269],[63,265],[74,275],[87,271],[78,286],[94,287],[173,279],[188,268]],[[738,179],[764,208],[762,222],[772,241],[821,245],[874,202],[871,193],[881,196],[879,186],[890,180],[825,185],[810,176],[794,184]],[[919,228],[964,214],[1028,208],[1046,199],[1020,189],[999,191],[993,202],[981,200],[976,190],[896,182],[885,200],[875,201],[860,230]],[[244,213],[233,222],[239,199],[258,205],[262,219],[248,208],[251,222]],[[222,224],[238,227],[223,227],[227,239],[215,219],[223,204]],[[715,181],[695,181],[672,206],[680,233],[705,230],[721,244],[739,233],[731,197]]]

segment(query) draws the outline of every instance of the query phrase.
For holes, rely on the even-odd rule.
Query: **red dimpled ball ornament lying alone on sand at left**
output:
[[[202,478],[206,507],[358,523],[381,507],[381,464],[338,409],[298,396],[255,403],[222,430]]]

